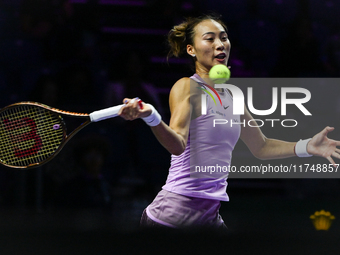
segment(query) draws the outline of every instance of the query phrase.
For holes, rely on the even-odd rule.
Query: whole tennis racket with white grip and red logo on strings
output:
[[[58,110],[36,102],[21,102],[0,110],[0,163],[13,168],[34,168],[49,162],[64,145],[91,122],[118,115],[118,105],[86,113]],[[83,118],[67,134],[62,115]]]

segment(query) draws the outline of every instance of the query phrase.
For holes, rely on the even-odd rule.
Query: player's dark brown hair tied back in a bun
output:
[[[173,29],[170,30],[168,34],[168,43],[170,46],[168,58],[172,56],[183,56],[186,53],[187,45],[194,45],[195,27],[202,21],[209,19],[220,23],[225,31],[227,31],[227,26],[221,20],[221,15],[206,14],[196,18],[189,17],[181,24],[174,26]]]

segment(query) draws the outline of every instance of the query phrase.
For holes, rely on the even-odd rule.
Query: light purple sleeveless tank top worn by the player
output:
[[[197,74],[190,78],[209,91]],[[181,155],[171,156],[169,175],[162,188],[189,197],[229,201],[228,167],[240,137],[240,116],[233,115],[233,99],[226,89],[218,92],[222,105],[210,92],[216,104],[205,92],[207,114],[191,121],[187,146]]]

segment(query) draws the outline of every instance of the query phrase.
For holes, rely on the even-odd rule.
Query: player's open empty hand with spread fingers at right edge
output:
[[[309,154],[320,156],[328,159],[336,167],[332,157],[340,159],[340,141],[332,140],[327,137],[328,133],[333,131],[334,127],[326,127],[320,133],[316,134],[307,145]]]

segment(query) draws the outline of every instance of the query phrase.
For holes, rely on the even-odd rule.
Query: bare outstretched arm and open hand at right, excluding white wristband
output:
[[[246,107],[245,114],[241,118],[244,123],[248,123],[248,121],[253,119]],[[340,142],[327,137],[328,133],[333,130],[334,128],[326,127],[316,134],[308,142],[307,152],[314,156],[324,157],[330,163],[335,164],[332,157],[340,159],[340,150],[337,148],[337,146],[340,146]],[[267,138],[258,126],[242,126],[241,139],[251,153],[259,159],[281,159],[296,156],[296,142]]]

